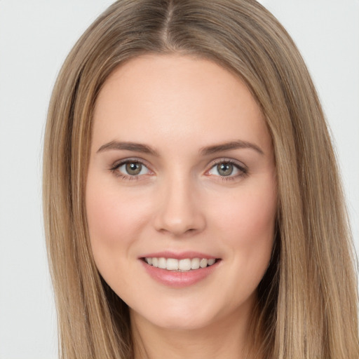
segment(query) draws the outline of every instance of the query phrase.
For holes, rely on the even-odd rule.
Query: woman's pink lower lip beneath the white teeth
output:
[[[147,273],[149,273],[151,278],[154,278],[154,280],[157,282],[168,287],[182,288],[194,285],[210,276],[210,274],[217,269],[220,261],[215,262],[215,264],[212,264],[212,266],[206,266],[205,268],[194,269],[185,272],[168,271],[167,269],[150,266],[142,259],[141,262]]]

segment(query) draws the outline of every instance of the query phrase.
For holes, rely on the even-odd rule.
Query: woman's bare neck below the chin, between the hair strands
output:
[[[250,359],[252,327],[257,316],[232,315],[196,329],[163,328],[130,311],[135,359]]]

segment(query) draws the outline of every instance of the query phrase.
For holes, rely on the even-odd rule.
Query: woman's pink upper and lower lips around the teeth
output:
[[[140,262],[142,266],[144,266],[144,270],[147,271],[151,278],[154,278],[158,283],[166,285],[168,287],[181,288],[188,287],[190,285],[194,285],[201,280],[208,277],[213,271],[217,269],[220,260],[212,264],[211,266],[207,266],[205,268],[195,269],[191,271],[168,271],[167,269],[157,268],[155,266],[151,266],[144,262],[144,258],[149,257],[164,257],[164,258],[174,258],[174,259],[193,259],[193,258],[205,258],[205,259],[216,259],[216,257],[205,255],[204,253],[198,252],[182,252],[182,253],[174,253],[174,252],[156,252],[149,253],[140,258]]]

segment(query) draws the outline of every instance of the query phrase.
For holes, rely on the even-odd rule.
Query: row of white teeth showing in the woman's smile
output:
[[[155,266],[161,269],[167,269],[168,271],[191,271],[195,269],[205,268],[206,266],[212,266],[216,260],[205,258],[193,258],[193,259],[175,259],[175,258],[156,258],[148,257],[144,258],[145,262],[150,266]]]

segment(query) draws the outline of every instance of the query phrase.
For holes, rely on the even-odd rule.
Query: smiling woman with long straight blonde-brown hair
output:
[[[62,357],[358,358],[337,172],[302,57],[257,2],[116,2],[48,114]]]

